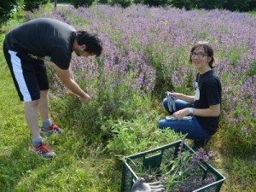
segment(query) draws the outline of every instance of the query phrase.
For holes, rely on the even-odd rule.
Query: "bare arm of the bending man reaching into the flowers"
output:
[[[63,70],[60,67],[55,66],[58,77],[61,79],[61,83],[64,84],[68,90],[71,90],[74,94],[80,96],[80,101],[88,103],[90,101],[90,96],[88,96],[84,90],[79,87],[73,79],[73,73],[71,67],[67,70]]]

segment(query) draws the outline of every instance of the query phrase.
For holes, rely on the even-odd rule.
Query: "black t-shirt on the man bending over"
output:
[[[61,69],[70,64],[76,30],[55,19],[30,20],[11,30],[5,38],[8,49],[38,57],[49,56]]]

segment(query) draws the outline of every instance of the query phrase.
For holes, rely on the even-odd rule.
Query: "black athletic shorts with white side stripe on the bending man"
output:
[[[46,67],[43,60],[26,53],[8,49],[3,44],[3,53],[9,65],[20,101],[32,102],[40,98],[40,90],[49,90]]]

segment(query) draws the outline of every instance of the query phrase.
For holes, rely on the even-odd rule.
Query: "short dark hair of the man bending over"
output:
[[[88,51],[96,56],[102,55],[102,40],[96,34],[78,31],[76,39],[79,45],[85,44],[86,48],[84,51]]]

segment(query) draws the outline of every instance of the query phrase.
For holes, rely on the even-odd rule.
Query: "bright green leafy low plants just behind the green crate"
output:
[[[108,120],[105,127],[111,128],[113,139],[108,140],[110,154],[122,156],[137,154],[148,148],[158,148],[183,138],[174,131],[163,131],[156,127],[159,114],[155,111],[138,114],[130,120]]]

